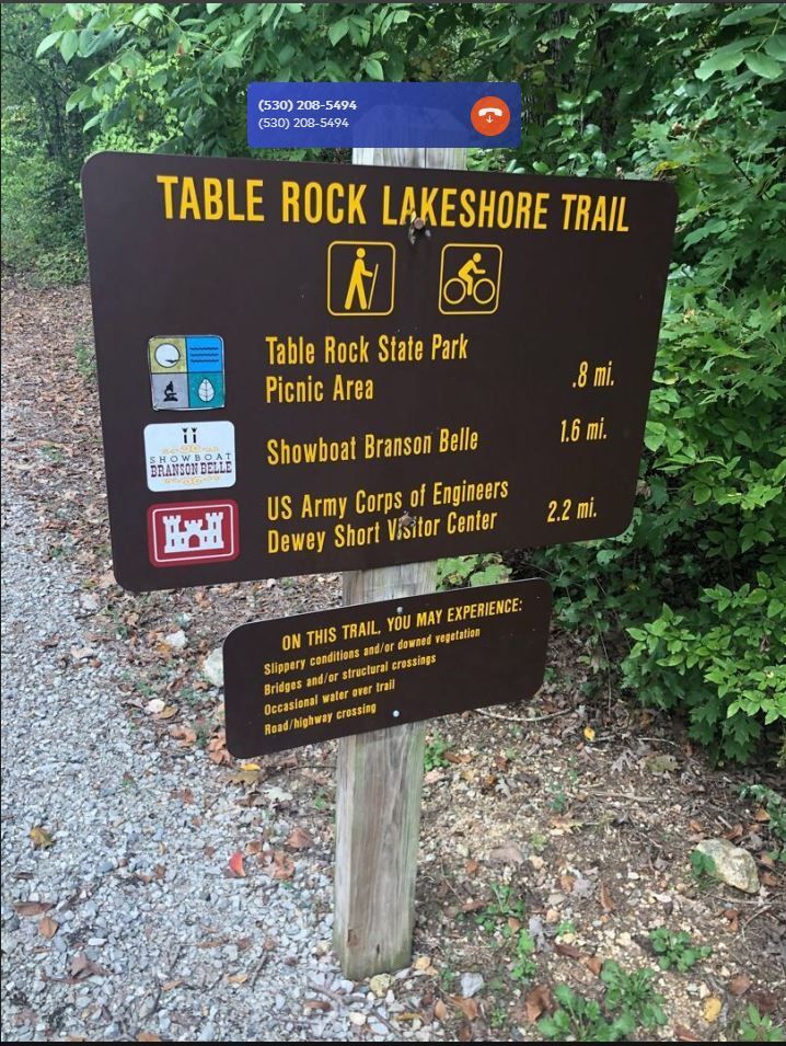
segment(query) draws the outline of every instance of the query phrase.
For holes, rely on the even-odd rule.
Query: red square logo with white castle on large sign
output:
[[[236,559],[240,553],[236,503],[228,499],[151,505],[148,551],[153,566]]]

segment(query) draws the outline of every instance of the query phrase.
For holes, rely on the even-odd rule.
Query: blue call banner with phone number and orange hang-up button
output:
[[[250,83],[254,149],[511,149],[518,83]]]

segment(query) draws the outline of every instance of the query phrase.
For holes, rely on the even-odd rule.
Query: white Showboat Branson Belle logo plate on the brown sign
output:
[[[231,422],[171,422],[145,428],[149,491],[234,486],[234,425]]]

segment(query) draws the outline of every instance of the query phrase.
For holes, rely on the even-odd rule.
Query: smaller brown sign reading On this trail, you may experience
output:
[[[258,756],[531,698],[551,605],[536,579],[242,624],[223,644],[227,746]]]

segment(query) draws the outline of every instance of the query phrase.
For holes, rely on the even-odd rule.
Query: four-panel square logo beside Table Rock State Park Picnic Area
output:
[[[215,411],[226,404],[223,338],[159,335],[148,342],[154,411]]]

